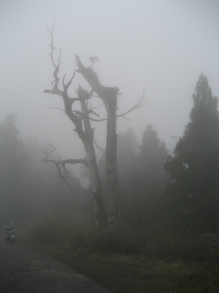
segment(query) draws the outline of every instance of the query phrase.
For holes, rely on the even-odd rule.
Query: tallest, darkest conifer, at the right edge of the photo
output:
[[[175,199],[177,213],[196,227],[219,229],[218,98],[203,74],[192,97],[190,122],[165,162],[172,179],[166,193]]]

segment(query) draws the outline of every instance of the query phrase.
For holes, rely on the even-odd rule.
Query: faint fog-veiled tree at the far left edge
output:
[[[28,156],[18,137],[16,120],[16,114],[10,113],[0,124],[0,209],[4,221],[22,217],[27,192]]]

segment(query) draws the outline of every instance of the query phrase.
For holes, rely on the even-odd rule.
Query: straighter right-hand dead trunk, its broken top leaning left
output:
[[[96,57],[95,57],[96,58]],[[106,178],[107,178],[107,200],[108,200],[108,223],[113,225],[121,218],[121,201],[119,179],[117,171],[117,117],[123,116],[132,110],[142,107],[144,93],[139,102],[126,113],[117,115],[117,98],[119,89],[117,87],[106,87],[100,84],[97,74],[93,71],[92,64],[85,68],[78,55],[75,55],[80,72],[85,80],[90,84],[92,90],[102,99],[107,111],[107,147],[106,147]],[[98,121],[98,120],[95,120]],[[99,120],[100,121],[100,120]]]

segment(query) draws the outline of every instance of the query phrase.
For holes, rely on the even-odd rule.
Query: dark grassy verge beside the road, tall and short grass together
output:
[[[65,230],[59,220],[49,222],[32,229],[22,242],[62,260],[111,292],[219,293],[214,235],[199,238],[186,233],[181,239],[177,232],[153,227],[143,237],[143,231],[125,228],[124,234],[75,224],[65,225]],[[194,242],[198,251],[194,251]],[[174,250],[177,244],[184,247]]]

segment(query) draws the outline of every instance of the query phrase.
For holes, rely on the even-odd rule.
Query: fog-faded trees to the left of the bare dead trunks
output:
[[[20,138],[16,113],[0,124],[0,223],[33,223],[43,214],[74,212],[87,196],[73,174],[74,194],[62,183],[54,166],[40,163],[44,157],[36,139]],[[46,144],[49,148],[49,144]],[[60,155],[51,156],[60,159]],[[71,208],[70,208],[71,207]],[[80,208],[82,209],[82,208]],[[83,211],[82,211],[83,212]]]

